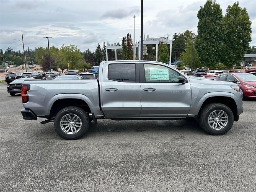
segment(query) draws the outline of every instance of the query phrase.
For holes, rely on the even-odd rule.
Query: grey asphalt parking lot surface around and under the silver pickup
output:
[[[0,83],[0,191],[256,191],[256,102],[222,136],[196,121],[99,120],[81,139],[23,120]]]

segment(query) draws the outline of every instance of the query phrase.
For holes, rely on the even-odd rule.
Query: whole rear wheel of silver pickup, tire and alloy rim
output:
[[[64,139],[78,139],[89,128],[89,116],[80,107],[65,107],[55,116],[54,128]]]

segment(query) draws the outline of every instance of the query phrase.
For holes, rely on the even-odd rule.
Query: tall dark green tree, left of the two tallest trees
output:
[[[221,7],[214,0],[206,1],[197,13],[197,39],[195,48],[207,70],[210,64],[217,64],[221,52]]]

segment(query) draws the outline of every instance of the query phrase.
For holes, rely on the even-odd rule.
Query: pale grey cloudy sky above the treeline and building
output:
[[[223,14],[236,0],[216,0]],[[119,0],[44,0],[30,1],[0,0],[0,47],[8,46],[22,50],[19,41],[24,37],[25,48],[75,44],[81,51],[95,50],[96,44],[105,41],[117,43],[119,37],[127,33],[133,35],[133,15],[135,18],[135,40],[140,38],[141,1]],[[256,1],[240,0],[246,7],[252,21],[252,42],[256,45]],[[172,37],[177,31],[186,29],[197,33],[196,13],[205,0],[144,0],[143,33],[149,37]],[[133,38],[133,37],[132,37]]]

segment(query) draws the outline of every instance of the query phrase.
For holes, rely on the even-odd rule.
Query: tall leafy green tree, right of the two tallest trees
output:
[[[221,61],[229,69],[242,61],[249,43],[252,41],[252,22],[246,8],[242,9],[239,2],[227,7],[223,18],[223,47]]]

